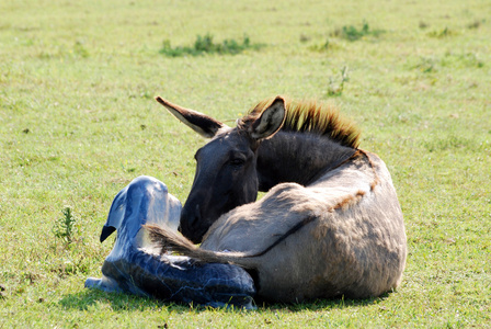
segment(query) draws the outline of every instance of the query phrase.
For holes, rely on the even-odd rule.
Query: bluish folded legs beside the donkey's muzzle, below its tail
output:
[[[141,226],[148,223],[172,229],[169,223],[175,223],[173,217],[179,223],[180,212],[181,204],[163,183],[148,177],[135,179],[114,198],[102,230],[101,240],[117,230],[114,248],[102,266],[102,279],[88,279],[85,287],[214,307],[252,308],[255,287],[243,269],[153,252]]]

